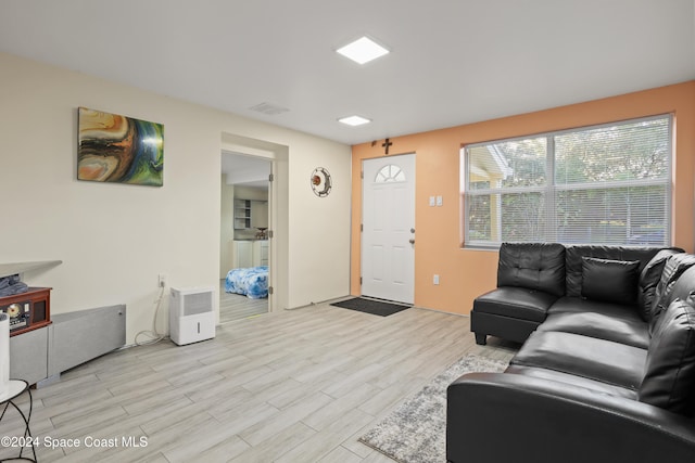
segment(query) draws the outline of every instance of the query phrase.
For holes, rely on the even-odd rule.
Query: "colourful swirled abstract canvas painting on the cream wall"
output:
[[[78,126],[78,180],[162,187],[162,124],[80,107]]]

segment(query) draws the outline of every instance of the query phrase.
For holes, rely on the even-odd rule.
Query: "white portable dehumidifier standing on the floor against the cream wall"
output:
[[[215,337],[212,287],[172,288],[169,337],[179,346]]]

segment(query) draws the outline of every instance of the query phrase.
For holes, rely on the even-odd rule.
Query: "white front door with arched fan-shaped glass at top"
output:
[[[415,300],[415,154],[365,159],[362,294]]]

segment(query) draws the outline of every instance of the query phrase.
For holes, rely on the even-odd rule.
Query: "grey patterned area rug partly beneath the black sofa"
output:
[[[358,440],[402,463],[446,462],[446,387],[471,372],[501,372],[507,362],[468,355],[448,366]]]

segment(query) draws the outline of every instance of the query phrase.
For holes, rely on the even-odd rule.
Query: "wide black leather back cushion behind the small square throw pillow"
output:
[[[581,297],[582,295],[582,267],[584,257],[626,261],[639,260],[640,270],[642,270],[660,249],[662,249],[662,247],[599,246],[589,244],[566,246],[566,295],[569,297]]]

